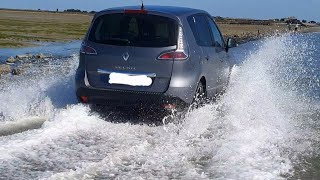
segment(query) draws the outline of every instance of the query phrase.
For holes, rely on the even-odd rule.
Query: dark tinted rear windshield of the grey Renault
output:
[[[98,17],[89,40],[101,44],[168,47],[177,44],[175,20],[151,14],[115,13]]]

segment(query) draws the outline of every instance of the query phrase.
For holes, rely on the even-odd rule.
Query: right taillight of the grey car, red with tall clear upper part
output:
[[[189,57],[188,45],[185,41],[182,27],[179,27],[177,49],[174,51],[161,53],[159,60],[185,60]]]

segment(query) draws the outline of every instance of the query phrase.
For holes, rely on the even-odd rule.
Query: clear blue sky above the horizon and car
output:
[[[0,8],[100,11],[110,7],[139,5],[141,0],[0,0]],[[295,16],[320,22],[320,0],[144,0],[145,5],[184,6],[213,16],[273,19]]]

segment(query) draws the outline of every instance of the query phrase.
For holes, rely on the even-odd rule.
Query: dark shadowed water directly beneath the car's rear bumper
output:
[[[130,123],[134,125],[162,126],[172,113],[166,110],[146,110],[132,107],[106,107],[91,105],[91,112],[112,123]]]

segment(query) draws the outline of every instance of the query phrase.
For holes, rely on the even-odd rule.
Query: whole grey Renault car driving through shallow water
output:
[[[107,9],[94,16],[83,40],[76,95],[82,103],[147,108],[214,98],[228,84],[229,47],[202,10]]]

